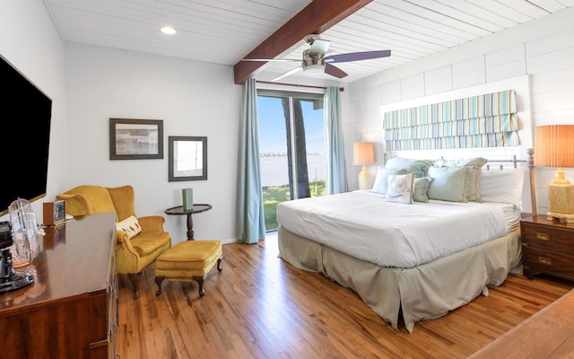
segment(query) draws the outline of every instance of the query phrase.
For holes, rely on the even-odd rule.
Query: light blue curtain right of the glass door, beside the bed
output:
[[[341,127],[341,95],[338,87],[326,88],[323,104],[325,106],[326,193],[333,195],[347,190],[343,128]]]

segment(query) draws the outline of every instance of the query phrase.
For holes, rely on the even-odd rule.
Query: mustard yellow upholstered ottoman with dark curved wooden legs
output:
[[[165,251],[155,261],[155,283],[159,289],[155,295],[161,295],[161,282],[196,281],[199,296],[204,296],[204,279],[217,262],[217,270],[222,271],[222,241],[181,241]]]

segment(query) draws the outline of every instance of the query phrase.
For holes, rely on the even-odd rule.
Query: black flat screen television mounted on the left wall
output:
[[[0,215],[5,215],[17,198],[33,202],[46,196],[52,100],[2,56],[0,84]]]

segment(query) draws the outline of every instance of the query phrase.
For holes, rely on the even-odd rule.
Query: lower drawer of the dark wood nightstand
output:
[[[574,256],[528,247],[522,253],[525,270],[574,279]]]

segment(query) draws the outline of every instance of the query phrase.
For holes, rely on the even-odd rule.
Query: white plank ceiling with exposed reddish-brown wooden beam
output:
[[[309,48],[302,40],[309,33],[330,41],[328,55],[392,51],[391,57],[337,64],[349,74],[343,79],[321,75],[350,83],[574,5],[574,0],[44,1],[66,43],[233,66],[236,83],[252,74],[270,81],[298,66],[240,60],[300,59]],[[165,25],[177,34],[162,34]],[[293,78],[304,81],[301,74]]]

